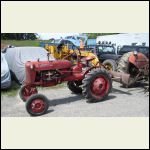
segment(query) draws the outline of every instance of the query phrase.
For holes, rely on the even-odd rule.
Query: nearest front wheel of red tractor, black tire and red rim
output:
[[[40,116],[45,114],[48,107],[49,102],[42,94],[33,94],[26,101],[26,110],[31,116]]]

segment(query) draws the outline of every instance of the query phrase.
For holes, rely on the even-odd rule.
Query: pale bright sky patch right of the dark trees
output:
[[[38,33],[40,39],[48,40],[50,38],[59,39],[60,37],[65,37],[69,35],[79,35],[79,33]]]

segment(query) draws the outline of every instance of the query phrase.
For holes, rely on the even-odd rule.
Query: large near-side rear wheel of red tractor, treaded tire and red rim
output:
[[[105,69],[94,69],[83,79],[83,95],[88,102],[104,100],[112,89],[112,80]]]

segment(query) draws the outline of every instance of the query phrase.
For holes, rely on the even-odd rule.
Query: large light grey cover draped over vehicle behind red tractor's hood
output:
[[[12,47],[7,48],[5,53],[8,66],[20,84],[25,80],[25,63],[27,61],[48,60],[48,52],[42,47]],[[52,55],[49,59],[55,60]]]

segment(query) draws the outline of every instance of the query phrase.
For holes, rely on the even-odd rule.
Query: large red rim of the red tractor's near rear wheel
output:
[[[104,76],[95,78],[92,82],[91,92],[92,95],[98,99],[103,98],[109,90],[109,82]]]

